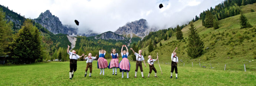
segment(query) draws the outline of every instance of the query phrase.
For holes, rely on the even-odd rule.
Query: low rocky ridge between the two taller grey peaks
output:
[[[105,40],[109,40],[109,39],[114,39],[114,40],[126,40],[127,38],[122,36],[122,35],[118,35],[114,32],[108,31],[105,33],[101,33],[100,35],[96,35],[93,36],[94,39],[105,39]]]

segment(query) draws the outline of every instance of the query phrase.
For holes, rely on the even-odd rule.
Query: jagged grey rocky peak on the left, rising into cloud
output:
[[[41,24],[43,27],[47,28],[50,32],[58,34],[63,33],[67,35],[77,34],[77,28],[73,28],[70,25],[62,25],[59,18],[49,10],[41,13],[38,18],[34,19],[37,23]]]

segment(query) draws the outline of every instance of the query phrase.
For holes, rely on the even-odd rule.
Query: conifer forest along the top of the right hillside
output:
[[[256,0],[225,0],[215,6],[215,8],[210,8],[200,13],[200,19],[202,20],[202,25],[206,28],[214,27],[218,29],[219,26],[217,21],[232,17],[234,15],[240,14],[240,6],[245,6],[247,4],[253,4]],[[194,20],[194,19],[193,19]],[[196,16],[196,20],[198,17]]]

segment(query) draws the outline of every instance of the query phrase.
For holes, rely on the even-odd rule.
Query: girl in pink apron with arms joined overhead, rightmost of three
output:
[[[126,50],[127,51],[123,51],[123,48],[126,47]],[[128,48],[126,45],[123,45],[122,46],[122,49],[121,49],[121,55],[122,55],[122,60],[120,61],[119,63],[119,69],[120,69],[120,72],[122,72],[122,78],[124,78],[124,72],[126,72],[127,74],[127,78],[129,78],[129,71],[130,71],[130,62],[129,60],[127,59],[128,57]]]

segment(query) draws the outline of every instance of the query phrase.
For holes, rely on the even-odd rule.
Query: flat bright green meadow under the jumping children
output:
[[[120,61],[120,60],[119,60]],[[109,62],[109,60],[108,60]],[[170,65],[161,64],[160,68],[155,64],[158,78],[154,78],[154,72],[150,78],[134,78],[135,62],[131,63],[129,79],[121,78],[121,73],[112,75],[112,69],[105,69],[105,76],[99,75],[97,62],[93,61],[92,77],[83,77],[86,68],[85,61],[78,61],[78,69],[74,78],[69,80],[69,62],[49,62],[26,65],[0,66],[0,85],[255,85],[255,72],[220,71],[207,68],[178,67],[178,79],[170,79]],[[148,75],[147,67],[143,67],[144,76]],[[89,72],[89,71],[88,71]],[[175,77],[175,74],[174,74]]]

